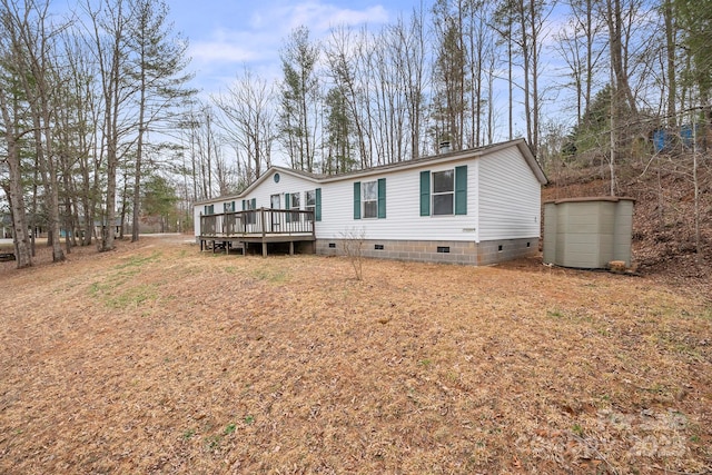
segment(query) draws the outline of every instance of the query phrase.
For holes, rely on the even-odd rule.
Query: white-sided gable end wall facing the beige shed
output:
[[[516,148],[479,160],[479,239],[538,237],[542,186]]]

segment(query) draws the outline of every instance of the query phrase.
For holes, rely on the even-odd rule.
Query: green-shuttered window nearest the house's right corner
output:
[[[467,215],[467,166],[421,171],[421,216]]]

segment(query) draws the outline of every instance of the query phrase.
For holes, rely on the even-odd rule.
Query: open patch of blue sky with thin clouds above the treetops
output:
[[[169,6],[175,30],[189,39],[195,86],[205,95],[225,88],[245,66],[264,78],[278,78],[279,49],[296,27],[308,27],[315,39],[339,24],[379,27],[409,14],[416,2],[170,0]]]

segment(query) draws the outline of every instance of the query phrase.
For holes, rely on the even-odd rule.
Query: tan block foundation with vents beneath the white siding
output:
[[[376,246],[383,249],[376,249]],[[448,248],[449,253],[438,253]],[[504,239],[497,241],[388,240],[365,239],[362,255],[370,258],[414,260],[486,266],[537,254],[537,239]],[[316,254],[343,256],[343,239],[317,239]]]

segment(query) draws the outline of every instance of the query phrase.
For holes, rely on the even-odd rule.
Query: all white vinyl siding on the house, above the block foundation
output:
[[[239,199],[255,199],[256,208],[269,207],[270,196],[279,195],[284,208],[291,207],[291,196],[307,191],[315,196],[315,232],[317,239],[339,239],[349,231],[364,231],[367,239],[388,240],[443,240],[486,241],[498,239],[533,238],[540,235],[541,184],[516,146],[505,146],[481,155],[466,155],[451,160],[424,160],[404,168],[390,168],[353,174],[349,177],[312,179],[284,169],[273,169],[260,178],[257,186]],[[462,180],[458,180],[457,169]],[[432,185],[428,185],[427,215],[422,214],[422,176],[455,170],[454,211],[432,215]],[[274,174],[279,172],[279,182]],[[422,175],[423,174],[423,175]],[[462,181],[462,182],[459,182]],[[360,219],[359,202],[355,217],[355,189],[363,200],[360,189],[365,184],[378,182],[378,219]],[[380,196],[383,185],[383,200]],[[387,189],[387,197],[386,191]],[[448,191],[449,192],[449,191]],[[451,195],[452,196],[452,195]],[[463,198],[463,199],[461,199]],[[216,209],[224,201],[215,200]],[[461,204],[464,204],[461,206]],[[196,205],[196,225],[204,205]],[[380,208],[383,205],[383,217]],[[466,205],[466,206],[465,206]],[[386,215],[387,207],[387,215]],[[462,212],[462,214],[459,214]],[[322,220],[319,221],[319,217]],[[199,229],[196,226],[196,236]]]

